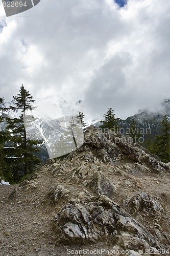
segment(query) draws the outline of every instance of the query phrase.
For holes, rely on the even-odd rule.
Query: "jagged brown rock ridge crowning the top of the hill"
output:
[[[130,136],[111,131],[103,133],[94,126],[85,132],[85,143],[80,150],[92,150],[104,162],[115,163],[119,160],[135,162],[151,168],[154,172],[169,170],[169,165],[161,162],[139,144],[134,144]]]

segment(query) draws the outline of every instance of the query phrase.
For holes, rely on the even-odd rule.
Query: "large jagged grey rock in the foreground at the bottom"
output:
[[[86,244],[110,239],[113,244],[128,249],[132,243],[139,248],[160,248],[147,229],[104,195],[91,201],[74,200],[64,205],[56,214],[53,230],[58,244]]]

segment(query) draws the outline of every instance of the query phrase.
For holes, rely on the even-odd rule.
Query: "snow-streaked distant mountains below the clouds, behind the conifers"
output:
[[[9,105],[11,105],[10,102],[6,103],[7,107]],[[76,118],[79,112],[83,112],[85,114],[84,121],[88,126],[101,125],[99,119],[92,120],[91,117],[86,115],[84,112],[83,101],[81,100],[76,103],[72,103],[63,99],[59,101],[54,97],[38,102],[35,106],[36,109],[33,110],[33,112],[26,113],[25,127],[27,135],[30,139],[43,140],[51,158],[62,155],[63,152],[66,152],[66,154],[69,153],[70,148],[68,147],[68,144],[71,145],[71,151],[75,150],[75,141],[73,140],[72,134],[68,134],[67,128],[71,118]],[[16,117],[19,113],[9,111],[7,115]],[[160,120],[163,115],[167,115],[170,120],[170,99],[165,99],[162,102],[161,111],[143,111],[139,114],[128,117],[126,120],[120,119],[119,126],[122,127],[121,132],[126,133],[131,126],[132,120],[135,119],[139,130],[142,129],[144,131],[142,135],[144,139],[148,136],[147,129],[150,129],[151,138],[154,139],[155,135],[159,134]],[[2,123],[1,126],[3,125],[4,124]],[[78,145],[81,146],[83,143],[83,130],[78,120],[76,121],[76,126],[79,130],[75,131],[77,136],[76,140]],[[67,138],[69,143],[66,143],[65,138]],[[67,146],[65,147],[66,144]],[[59,155],[56,155],[56,148],[58,152],[60,151]]]

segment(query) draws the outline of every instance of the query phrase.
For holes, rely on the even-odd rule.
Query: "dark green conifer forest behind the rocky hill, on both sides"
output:
[[[8,180],[11,184],[20,182],[32,174],[35,167],[44,159],[47,160],[47,152],[42,150],[41,146],[43,141],[31,140],[25,130],[26,111],[32,111],[35,108],[34,101],[23,84],[19,93],[13,96],[12,104],[8,108],[5,99],[0,98],[0,177]],[[8,115],[9,112],[17,113],[17,115]],[[86,126],[87,129],[84,113],[78,112],[77,117],[80,118],[82,127]],[[134,118],[130,119],[125,130],[125,123],[120,118],[115,118],[114,110],[109,107],[107,113],[104,114],[104,120],[100,121],[99,127],[103,132],[111,130],[129,135],[132,138],[132,143],[146,147],[165,163],[170,161],[170,123],[167,115],[160,120],[156,135],[153,135],[152,131],[143,134],[143,130]],[[147,130],[146,127],[145,130]],[[78,150],[77,147],[76,150]]]

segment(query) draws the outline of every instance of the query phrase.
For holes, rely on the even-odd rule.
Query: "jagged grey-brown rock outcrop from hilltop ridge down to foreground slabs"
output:
[[[68,181],[77,186],[81,184],[84,189],[77,197],[69,198],[56,213],[53,230],[58,245],[109,241],[115,249],[133,250],[133,255],[140,255],[138,250],[153,248],[159,254],[166,249],[169,234],[158,223],[155,231],[150,232],[140,218],[136,218],[138,214],[146,214],[151,219],[155,216],[166,219],[160,202],[143,192],[118,205],[115,200],[120,196],[119,189],[108,174],[126,179],[129,174],[163,174],[169,171],[168,165],[133,144],[130,137],[113,132],[104,134],[93,126],[85,132],[85,143],[79,152],[71,153],[67,159],[72,165],[70,173],[67,172]],[[124,184],[142,189],[136,180],[126,180]]]

